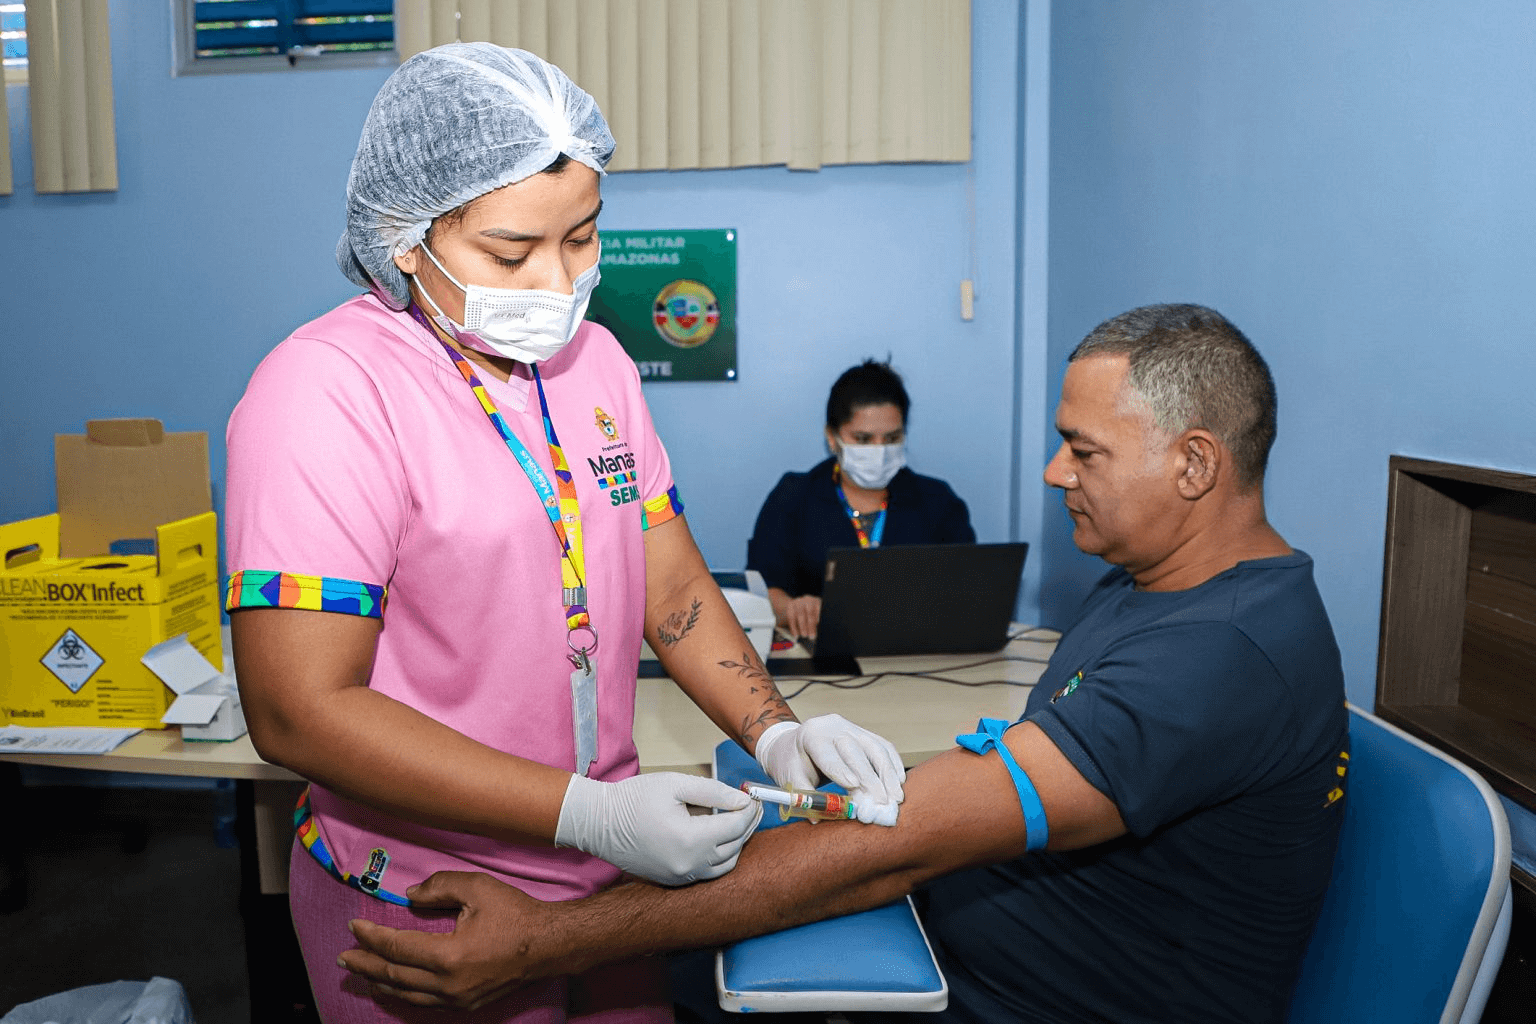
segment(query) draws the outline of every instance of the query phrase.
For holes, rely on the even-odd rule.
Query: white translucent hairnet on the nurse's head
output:
[[[395,69],[369,109],[336,266],[404,309],[410,290],[393,256],[418,244],[433,218],[561,154],[602,173],[613,135],[598,103],[559,68],[492,43],[422,51]]]

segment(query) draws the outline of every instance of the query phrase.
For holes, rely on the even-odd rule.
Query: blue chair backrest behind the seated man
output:
[[[1456,1019],[1508,884],[1504,811],[1462,765],[1353,706],[1346,792],[1290,1021]]]

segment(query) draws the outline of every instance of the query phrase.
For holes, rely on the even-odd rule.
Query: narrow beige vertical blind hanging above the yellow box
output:
[[[117,189],[108,0],[26,0],[26,61],[37,190]]]

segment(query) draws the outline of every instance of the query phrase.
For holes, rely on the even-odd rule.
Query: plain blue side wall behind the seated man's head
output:
[[[1279,388],[1270,519],[1372,706],[1387,456],[1536,473],[1536,6],[1074,0],[1052,31],[1051,393],[1106,316],[1230,316]],[[1046,510],[1064,622],[1101,567]]]

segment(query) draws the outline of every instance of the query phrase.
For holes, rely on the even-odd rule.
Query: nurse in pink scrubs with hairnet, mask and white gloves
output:
[[[871,817],[902,798],[889,743],[790,711],[693,542],[634,364],[582,319],[611,154],[591,97],[533,54],[407,60],[347,183],[336,258],[367,292],[280,344],[229,421],[235,663],[257,749],[312,783],[290,900],[326,1021],[442,1019],[336,966],[352,918],[452,930],[410,904],[436,870],[568,900],[734,866],[757,804],[637,774],[642,636],[780,783],[833,778]],[[639,961],[455,1019],[671,1006]]]

